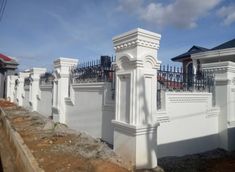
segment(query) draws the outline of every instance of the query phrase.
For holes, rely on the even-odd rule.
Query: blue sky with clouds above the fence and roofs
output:
[[[51,69],[58,57],[113,55],[112,37],[136,27],[162,35],[158,59],[168,64],[192,45],[211,48],[235,38],[235,2],[8,0],[0,53],[16,57],[21,70]]]

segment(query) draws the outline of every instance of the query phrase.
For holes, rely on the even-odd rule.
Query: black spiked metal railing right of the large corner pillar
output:
[[[185,73],[182,68],[161,66],[157,73],[157,109],[162,108],[162,91],[198,91],[213,93],[214,73],[198,70]]]

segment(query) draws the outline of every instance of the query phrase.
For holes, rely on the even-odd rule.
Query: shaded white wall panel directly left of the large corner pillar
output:
[[[81,83],[71,87],[66,98],[66,124],[113,143],[114,103],[110,83]]]

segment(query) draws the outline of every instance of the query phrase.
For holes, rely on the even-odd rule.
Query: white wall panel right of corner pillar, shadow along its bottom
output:
[[[211,93],[166,92],[166,111],[157,112],[158,157],[180,156],[219,147],[219,109]]]

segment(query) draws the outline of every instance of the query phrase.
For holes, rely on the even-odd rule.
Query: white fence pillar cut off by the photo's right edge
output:
[[[202,64],[215,73],[215,102],[220,107],[220,146],[235,150],[235,63],[230,61]]]

